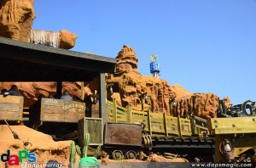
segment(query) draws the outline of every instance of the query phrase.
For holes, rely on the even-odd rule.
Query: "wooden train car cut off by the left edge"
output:
[[[0,120],[22,121],[24,98],[0,95]]]

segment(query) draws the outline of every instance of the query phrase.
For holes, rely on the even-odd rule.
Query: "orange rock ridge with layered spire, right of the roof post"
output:
[[[108,99],[116,99],[123,107],[154,113],[186,116],[190,113],[203,118],[215,117],[218,96],[213,93],[192,93],[179,85],[170,86],[167,81],[153,76],[142,76],[137,70],[138,59],[133,48],[124,46],[116,59],[116,73],[106,76]],[[110,87],[113,94],[110,94]]]

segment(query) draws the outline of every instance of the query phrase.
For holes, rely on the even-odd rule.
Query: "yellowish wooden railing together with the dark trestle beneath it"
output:
[[[208,152],[208,156],[214,150],[215,138],[210,136],[207,120],[200,117],[185,119],[166,115],[166,113],[152,113],[150,110],[137,111],[131,109],[131,106],[124,108],[117,105],[114,99],[113,102],[107,102],[106,113],[107,122],[143,124],[144,135],[150,135],[153,150],[177,152],[175,148],[179,148],[178,151],[184,153],[201,151],[201,154],[206,154],[205,152]],[[144,147],[148,147],[144,139],[143,143]]]

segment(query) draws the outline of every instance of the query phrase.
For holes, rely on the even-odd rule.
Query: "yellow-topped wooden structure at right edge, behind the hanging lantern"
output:
[[[228,139],[234,148],[234,156],[256,148],[256,116],[215,118],[208,121],[209,130],[215,135],[215,161],[224,162],[219,145]]]

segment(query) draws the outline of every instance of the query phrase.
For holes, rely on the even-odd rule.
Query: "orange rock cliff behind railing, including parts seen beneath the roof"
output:
[[[134,49],[124,46],[119,52],[117,58],[117,72],[106,74],[107,98],[116,99],[117,103],[123,107],[128,104],[132,109],[145,110],[151,109],[154,113],[166,112],[167,115],[180,115],[188,117],[189,114],[201,116],[202,118],[216,117],[218,109],[218,96],[213,93],[192,93],[183,87],[175,84],[170,86],[167,81],[154,78],[153,76],[142,76],[137,70],[138,60]],[[131,60],[130,60],[131,59]],[[97,88],[97,80],[85,84],[84,96],[92,94]],[[44,97],[55,95],[55,82],[0,82],[0,89],[9,89],[11,85],[16,84],[24,98],[24,106],[29,107],[38,100],[38,96]],[[112,85],[112,86],[111,86]],[[113,87],[113,94],[110,94],[110,86]],[[63,82],[63,90],[67,90],[71,96],[80,97],[80,82]],[[147,93],[147,101],[145,100]],[[171,99],[176,96],[173,107]],[[230,106],[230,100],[225,97],[226,105]],[[173,103],[174,103],[173,102]]]

